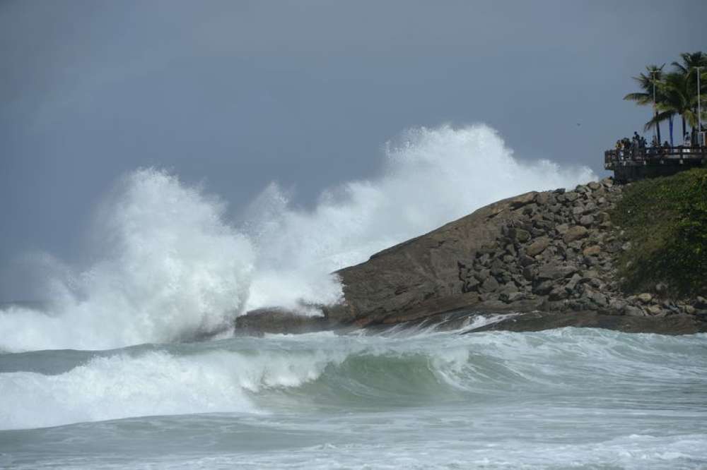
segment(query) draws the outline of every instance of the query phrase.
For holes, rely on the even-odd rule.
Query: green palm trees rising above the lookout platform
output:
[[[641,106],[653,106],[655,93],[655,107],[653,118],[645,123],[645,130],[653,128],[658,131],[660,140],[660,123],[670,122],[670,140],[672,142],[672,120],[675,116],[682,118],[682,136],[687,132],[687,124],[692,128],[697,127],[698,95],[707,95],[707,54],[693,52],[680,54],[682,62],[673,62],[674,70],[665,73],[662,66],[650,65],[645,68],[646,73],[641,73],[633,80],[638,82],[641,92],[629,93],[624,100],[635,101]],[[697,73],[700,74],[700,90],[697,90]],[[654,88],[655,87],[655,88]],[[702,120],[706,121],[707,110],[702,103]]]

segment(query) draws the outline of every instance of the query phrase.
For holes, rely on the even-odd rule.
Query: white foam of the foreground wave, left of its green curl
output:
[[[59,375],[0,374],[0,428],[40,428],[130,416],[258,412],[246,392],[315,380],[335,357],[156,351],[93,358]]]

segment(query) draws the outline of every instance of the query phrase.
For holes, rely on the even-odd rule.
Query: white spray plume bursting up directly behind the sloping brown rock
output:
[[[487,126],[411,129],[387,143],[378,176],[324,191],[314,210],[293,209],[274,184],[259,195],[248,211],[258,255],[247,306],[334,301],[330,272],[496,200],[595,178],[586,167],[520,162]]]

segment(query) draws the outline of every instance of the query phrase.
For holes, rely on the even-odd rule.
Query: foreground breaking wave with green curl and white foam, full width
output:
[[[704,366],[693,359],[703,354],[705,339],[578,328],[393,337],[316,333],[102,353],[5,354],[0,428],[455,402],[522,408],[547,403],[548,397],[585,406],[621,399],[641,409],[682,382],[697,390]],[[627,396],[629,383],[643,392]],[[671,406],[679,409],[693,399],[673,396]]]

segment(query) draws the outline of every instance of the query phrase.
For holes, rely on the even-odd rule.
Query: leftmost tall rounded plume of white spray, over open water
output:
[[[47,312],[1,311],[0,349],[109,349],[230,326],[253,250],[224,207],[165,171],[127,175],[100,207],[98,258],[49,279]]]

